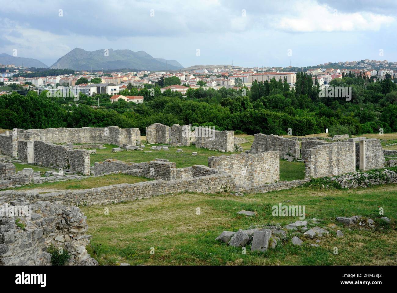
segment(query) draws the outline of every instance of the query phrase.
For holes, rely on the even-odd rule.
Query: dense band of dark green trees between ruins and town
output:
[[[80,96],[80,100],[47,98],[46,93],[16,93],[0,97],[0,127],[103,127],[117,125],[140,128],[145,134],[152,123],[215,125],[218,130],[238,130],[247,134],[293,135],[325,132],[330,134],[363,134],[397,132],[397,86],[390,79],[373,82],[362,77],[332,80],[331,86],[351,86],[352,99],[321,98],[317,80],[298,73],[294,90],[286,80],[254,82],[251,90],[203,88],[179,92],[160,87],[131,88],[121,92],[144,96],[145,103],[125,101],[110,103],[110,96]],[[98,106],[96,109],[90,106]]]

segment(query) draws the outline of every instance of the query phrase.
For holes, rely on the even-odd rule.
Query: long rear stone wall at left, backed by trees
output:
[[[83,127],[83,128],[44,128],[44,129],[17,129],[18,140],[40,140],[54,144],[74,142],[79,144],[106,143],[122,146],[137,145],[141,132],[139,128]]]

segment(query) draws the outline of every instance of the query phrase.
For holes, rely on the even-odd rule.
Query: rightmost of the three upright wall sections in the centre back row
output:
[[[231,130],[208,130],[197,127],[195,129],[196,147],[217,149],[220,151],[234,151],[234,132]]]

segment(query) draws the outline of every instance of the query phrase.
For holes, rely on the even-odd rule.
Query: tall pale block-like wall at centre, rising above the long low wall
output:
[[[220,157],[209,157],[208,167],[231,174],[237,186],[252,188],[280,180],[280,159],[278,151],[263,153],[241,153]]]

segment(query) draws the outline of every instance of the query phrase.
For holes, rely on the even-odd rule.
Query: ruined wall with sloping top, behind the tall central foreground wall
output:
[[[284,138],[283,136],[273,134],[255,134],[251,153],[260,153],[263,151],[279,151],[280,156],[289,154],[296,159],[300,157],[299,142],[297,139]]]

